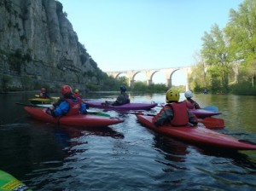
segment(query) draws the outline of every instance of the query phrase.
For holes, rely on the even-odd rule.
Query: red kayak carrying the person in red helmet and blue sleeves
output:
[[[33,119],[38,119],[51,124],[64,124],[77,127],[102,127],[124,122],[123,119],[97,116],[93,114],[77,114],[72,116],[62,116],[54,118],[49,114],[45,113],[47,108],[24,107],[24,109],[26,113],[28,113]]]

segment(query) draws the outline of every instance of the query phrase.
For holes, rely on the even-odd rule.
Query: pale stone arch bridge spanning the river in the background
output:
[[[146,74],[147,84],[152,84],[152,78],[154,77],[154,73],[156,72],[163,72],[166,77],[166,86],[171,88],[172,87],[172,74],[177,70],[182,70],[187,75],[187,83],[186,83],[186,90],[189,90],[189,81],[188,77],[191,73],[191,67],[170,67],[170,68],[161,68],[161,69],[142,69],[142,70],[129,70],[129,71],[116,71],[116,72],[107,72],[108,76],[112,76],[113,78],[118,78],[120,74],[125,74],[127,78],[129,78],[129,86],[132,87],[135,80],[135,76],[139,72],[143,72]]]

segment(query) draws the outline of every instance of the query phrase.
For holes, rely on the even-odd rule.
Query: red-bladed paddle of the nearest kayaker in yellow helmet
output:
[[[127,112],[131,114],[139,114],[139,115],[148,115],[148,116],[155,116],[155,114],[145,114],[142,112]],[[198,122],[204,124],[208,129],[222,129],[224,128],[224,119],[212,118],[208,117],[205,119],[198,119]]]

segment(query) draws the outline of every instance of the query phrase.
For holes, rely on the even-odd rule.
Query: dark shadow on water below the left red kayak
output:
[[[39,123],[33,119],[30,123],[0,125],[0,168],[15,174],[20,180],[28,180],[24,176],[32,171],[55,171],[68,157],[86,152],[84,146],[88,142],[84,141],[85,136],[124,138],[123,134],[111,127],[81,130],[71,126]],[[75,148],[79,145],[83,148]]]

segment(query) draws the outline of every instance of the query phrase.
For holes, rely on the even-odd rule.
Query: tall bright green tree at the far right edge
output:
[[[240,4],[238,11],[230,9],[230,22],[224,31],[230,41],[233,61],[241,62],[241,67],[247,70],[247,75],[254,84],[256,77],[256,1],[245,0]]]

